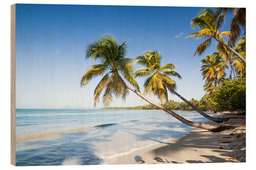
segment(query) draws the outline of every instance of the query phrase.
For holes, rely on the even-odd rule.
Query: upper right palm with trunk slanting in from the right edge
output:
[[[233,48],[231,48],[228,44],[223,42],[222,36],[229,37],[230,32],[219,32],[220,28],[223,26],[225,21],[225,13],[214,17],[214,11],[211,8],[204,9],[201,11],[198,16],[191,19],[191,25],[193,28],[200,28],[201,30],[197,33],[193,33],[187,36],[188,37],[195,37],[195,38],[205,38],[208,37],[203,43],[201,43],[195,52],[194,57],[199,54],[201,55],[206,48],[210,45],[211,39],[216,39],[220,44],[226,46],[232,53],[238,56],[244,63],[245,58],[243,58],[239,53],[237,53]]]

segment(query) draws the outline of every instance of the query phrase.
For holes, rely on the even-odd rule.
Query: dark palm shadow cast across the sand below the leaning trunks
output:
[[[166,143],[167,145],[154,149],[152,153],[154,155],[157,155],[153,159],[157,162],[163,163],[163,158],[165,156],[174,155],[176,152],[184,149],[184,148],[193,148],[195,151],[197,149],[213,149],[214,152],[221,153],[222,156],[230,156],[230,147],[229,143],[220,143],[220,140],[223,139],[223,137],[228,137],[228,135],[221,135],[219,133],[213,133],[209,131],[200,131],[193,132],[187,134],[187,136],[182,137],[178,140],[176,140],[174,143]],[[218,144],[216,144],[218,143]],[[223,149],[220,149],[223,148]],[[207,158],[208,161],[201,161],[201,160],[193,160],[188,159],[186,160],[187,163],[209,163],[209,162],[236,162],[230,159],[225,159],[223,157],[218,156],[212,156],[212,155],[200,155],[202,158]],[[161,159],[159,159],[162,157]],[[168,158],[169,159],[169,158]],[[178,163],[176,161],[170,161],[172,163]]]

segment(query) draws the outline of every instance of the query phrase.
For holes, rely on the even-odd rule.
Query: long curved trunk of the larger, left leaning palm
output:
[[[192,127],[196,127],[196,128],[201,128],[201,129],[206,129],[212,132],[220,132],[222,130],[225,129],[231,129],[233,128],[232,126],[214,126],[214,125],[208,125],[208,124],[202,124],[202,123],[198,123],[198,122],[192,122],[190,120],[185,119],[184,117],[176,114],[175,112],[173,112],[172,110],[169,110],[165,107],[163,107],[162,105],[151,101],[150,99],[147,99],[144,95],[142,95],[139,91],[135,90],[134,88],[130,87],[129,85],[125,85],[127,88],[129,88],[130,90],[132,90],[133,92],[135,92],[137,95],[140,96],[140,98],[142,98],[143,100],[145,100],[146,102],[158,107],[159,109],[164,110],[165,112],[167,112],[168,114],[174,116],[175,118],[177,118],[178,120],[180,120],[180,122],[188,125],[188,126],[192,126]]]

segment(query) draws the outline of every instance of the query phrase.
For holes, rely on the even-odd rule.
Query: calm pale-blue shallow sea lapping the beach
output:
[[[208,120],[195,111],[176,111]],[[109,164],[193,130],[164,111],[16,109],[16,165]]]

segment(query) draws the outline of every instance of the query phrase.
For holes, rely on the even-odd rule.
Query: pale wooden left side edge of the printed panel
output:
[[[11,6],[11,164],[16,164],[15,133],[15,4]]]

